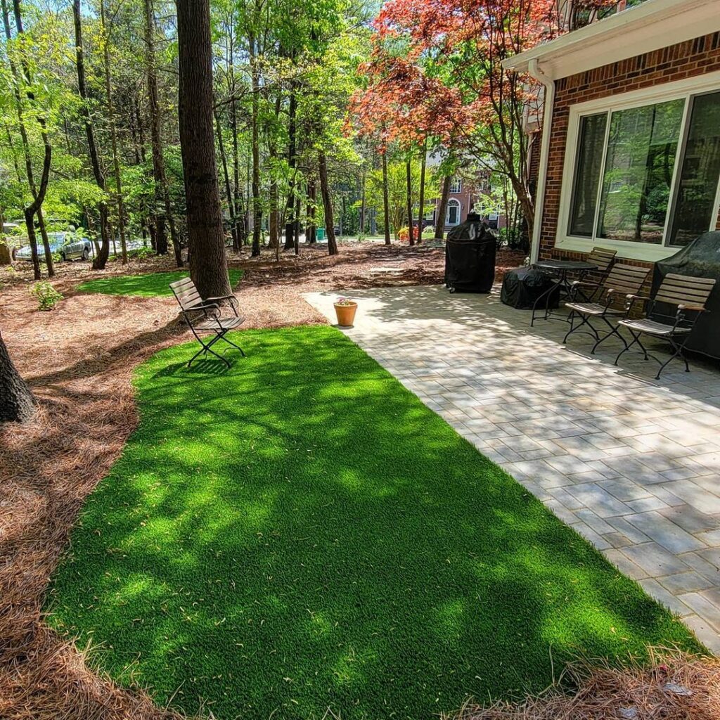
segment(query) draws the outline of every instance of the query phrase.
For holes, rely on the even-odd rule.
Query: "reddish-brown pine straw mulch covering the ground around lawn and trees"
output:
[[[498,277],[521,261],[518,253],[500,253]],[[246,326],[269,328],[325,322],[302,300],[304,292],[441,282],[443,253],[364,243],[343,246],[333,258],[322,248],[303,248],[297,258],[283,253],[279,263],[269,255],[240,255],[232,256],[230,264],[245,273],[237,295]],[[76,286],[100,276],[170,270],[171,258],[135,260],[125,269],[110,263],[102,272],[86,264],[58,264],[53,284],[66,299],[47,313],[37,312],[27,292],[30,269],[16,267],[13,274],[0,271],[0,328],[39,407],[31,424],[0,429],[0,718],[179,719],[173,711],[154,706],[143,690],[118,688],[94,671],[83,652],[43,624],[41,613],[48,578],[84,499],[135,428],[132,370],[159,349],[190,339],[177,322],[172,298],[81,294]],[[656,664],[652,672],[674,673],[678,683],[693,688],[693,695],[669,700],[644,690],[651,702],[657,697],[660,704],[652,710],[643,706],[645,714],[636,717],[720,717],[716,663],[677,658],[665,662],[670,670],[658,670]],[[647,670],[600,672],[593,676],[600,678],[595,690],[588,691],[588,697],[595,693],[600,698],[597,703],[624,698],[630,688],[655,682],[654,675],[642,675],[651,672]],[[711,714],[701,714],[706,697],[712,698],[708,708],[716,703]],[[563,703],[578,702],[562,698],[551,693],[539,701],[538,708],[545,703],[555,708],[551,714],[539,714],[538,708],[496,707],[487,711],[495,714],[482,715],[467,707],[462,720],[617,717],[561,714]],[[688,705],[683,706],[690,700],[698,714],[688,714]],[[504,714],[498,714],[501,711]]]

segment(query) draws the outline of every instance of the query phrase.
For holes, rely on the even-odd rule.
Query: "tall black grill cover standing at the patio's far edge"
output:
[[[495,235],[474,213],[450,230],[445,243],[445,284],[450,292],[490,292],[497,246]]]

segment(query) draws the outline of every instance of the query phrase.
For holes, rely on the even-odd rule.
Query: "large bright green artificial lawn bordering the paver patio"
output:
[[[333,328],[161,351],[50,621],[222,719],[429,720],[690,631]],[[179,688],[179,690],[178,690]],[[177,693],[174,694],[177,690]]]

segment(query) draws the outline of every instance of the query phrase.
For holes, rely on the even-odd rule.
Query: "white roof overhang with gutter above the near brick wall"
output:
[[[720,30],[720,0],[647,0],[503,60],[524,73],[532,60],[558,80]]]

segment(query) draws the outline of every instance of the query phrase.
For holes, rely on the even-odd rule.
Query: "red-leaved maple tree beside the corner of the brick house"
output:
[[[590,22],[617,0],[387,0],[374,21],[366,89],[349,122],[381,149],[426,138],[508,176],[531,225],[523,111],[539,86],[502,61]]]

